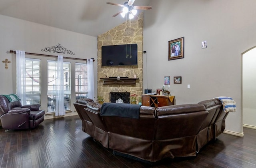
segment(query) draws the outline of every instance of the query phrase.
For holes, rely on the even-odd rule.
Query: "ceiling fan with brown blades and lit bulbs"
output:
[[[110,4],[110,5],[120,6],[120,7],[123,8],[123,10],[114,14],[113,17],[117,16],[118,14],[121,14],[121,16],[124,18],[125,14],[129,14],[129,19],[132,19],[132,18],[134,18],[134,16],[136,16],[137,10],[150,10],[150,9],[152,9],[151,6],[133,6],[134,1],[135,0],[129,0],[128,2],[124,2],[123,5],[115,4],[115,3],[112,3],[112,2],[106,2],[106,3]]]

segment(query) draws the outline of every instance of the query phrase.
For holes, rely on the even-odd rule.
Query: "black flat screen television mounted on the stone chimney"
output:
[[[102,46],[102,66],[137,65],[137,44]]]

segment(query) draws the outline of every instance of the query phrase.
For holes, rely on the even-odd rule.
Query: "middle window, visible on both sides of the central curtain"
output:
[[[56,108],[56,76],[57,61],[47,60],[48,63],[48,87],[47,87],[47,112],[55,112]],[[70,62],[63,63],[64,70],[64,107],[70,110],[71,86],[70,86]]]

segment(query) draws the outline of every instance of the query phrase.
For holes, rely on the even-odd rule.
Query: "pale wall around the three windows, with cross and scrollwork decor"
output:
[[[67,30],[53,28],[42,24],[36,24],[25,20],[0,15],[0,94],[16,92],[16,61],[15,54],[10,50],[25,50],[38,54],[58,55],[53,52],[42,52],[46,47],[56,46],[72,50],[75,55],[62,54],[73,58],[94,58],[94,84],[95,95],[97,95],[97,38]],[[2,60],[11,61],[9,69],[6,70]],[[47,73],[42,69],[42,73]],[[42,86],[46,87],[46,86]],[[71,105],[74,110],[73,105]]]

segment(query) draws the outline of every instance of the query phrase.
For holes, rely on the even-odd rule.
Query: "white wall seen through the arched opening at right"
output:
[[[256,48],[243,54],[243,124],[256,128]]]

